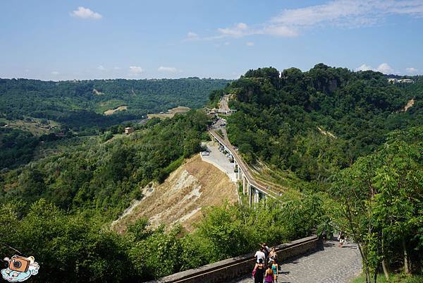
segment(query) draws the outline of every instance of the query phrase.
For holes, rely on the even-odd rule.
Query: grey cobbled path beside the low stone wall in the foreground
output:
[[[329,241],[324,251],[282,263],[278,283],[348,283],[362,270],[360,252],[355,245],[338,247]],[[231,283],[252,283],[250,275]]]

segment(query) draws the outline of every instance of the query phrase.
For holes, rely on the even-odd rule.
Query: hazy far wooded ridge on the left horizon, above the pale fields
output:
[[[51,119],[75,130],[106,127],[147,113],[186,106],[202,107],[209,92],[228,80],[180,78],[161,80],[42,81],[0,79],[0,118]],[[122,112],[104,112],[127,106]]]

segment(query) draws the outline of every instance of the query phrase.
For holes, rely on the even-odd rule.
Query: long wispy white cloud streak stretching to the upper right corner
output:
[[[333,0],[325,4],[302,8],[285,9],[264,23],[247,25],[238,23],[226,28],[218,28],[216,34],[196,40],[219,40],[226,37],[246,37],[249,35],[271,35],[275,37],[295,37],[307,28],[336,26],[360,28],[382,23],[388,16],[423,16],[422,0]]]

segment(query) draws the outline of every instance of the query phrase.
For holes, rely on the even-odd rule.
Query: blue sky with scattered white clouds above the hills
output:
[[[0,78],[423,73],[423,0],[1,1]]]

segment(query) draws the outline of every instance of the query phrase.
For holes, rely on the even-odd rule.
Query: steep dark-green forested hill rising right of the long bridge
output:
[[[210,98],[236,95],[231,108],[238,112],[228,120],[228,138],[247,162],[261,159],[303,180],[324,180],[373,152],[388,132],[423,121],[423,78],[414,79],[393,85],[382,73],[324,64],[281,74],[259,68]]]

